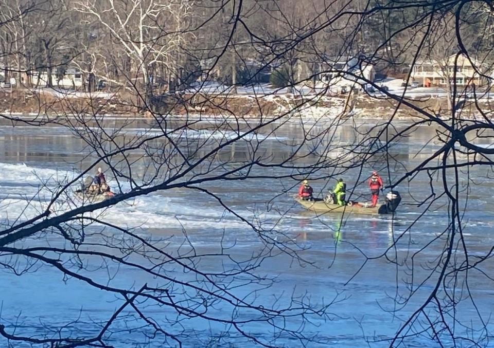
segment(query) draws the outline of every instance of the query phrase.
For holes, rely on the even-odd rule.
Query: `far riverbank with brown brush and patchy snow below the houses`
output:
[[[418,88],[415,88],[417,90]],[[422,88],[423,89],[423,88]],[[393,97],[384,94],[355,94],[348,96],[327,96],[317,94],[190,94],[175,98],[174,103],[163,103],[157,114],[167,117],[189,118],[260,118],[296,115],[303,118],[337,118],[352,117],[355,119],[388,119],[394,115],[397,119],[423,117],[413,108],[399,104],[396,99],[402,97],[399,91],[390,91]],[[443,114],[448,117],[448,98],[444,95],[414,93],[405,95],[408,103],[429,113]],[[2,98],[3,97],[3,98]],[[396,99],[395,99],[396,98]],[[142,112],[136,106],[125,102],[122,96],[112,95],[111,98],[85,98],[60,94],[36,94],[29,90],[4,93],[3,110],[0,115],[22,120],[45,120],[59,117],[104,117],[125,119],[148,119],[149,111]],[[478,99],[479,105],[490,110],[490,98],[486,94]],[[476,118],[475,102],[464,98],[463,109],[465,118]],[[165,108],[166,107],[166,108]],[[466,115],[468,113],[468,115]]]

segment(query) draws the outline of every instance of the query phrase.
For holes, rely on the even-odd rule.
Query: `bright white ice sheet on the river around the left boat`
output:
[[[51,190],[78,174],[75,171],[32,167],[25,163],[0,163],[0,190],[3,190],[3,195],[0,196],[0,218],[5,221],[21,215],[21,220],[25,220],[36,216],[46,209],[52,197]],[[43,187],[43,183],[47,187]],[[123,192],[130,188],[128,182],[121,183]],[[32,199],[33,197],[36,199]],[[197,202],[190,204],[186,200],[185,197],[152,193],[111,207],[105,211],[104,219],[129,228],[205,229],[213,225],[217,228],[248,228],[248,225],[232,214],[225,213],[222,208]],[[62,213],[70,209],[70,205],[56,205],[54,209],[56,213]],[[98,216],[101,212],[102,210],[97,210],[91,215]]]

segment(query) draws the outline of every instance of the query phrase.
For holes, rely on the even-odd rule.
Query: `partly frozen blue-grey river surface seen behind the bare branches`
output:
[[[118,125],[118,120],[108,121],[108,127]],[[180,121],[175,121],[180,124]],[[207,123],[197,124],[197,130],[189,130],[180,136],[188,139],[212,139],[219,137],[209,130]],[[317,125],[314,125],[317,127]],[[129,135],[143,134],[152,125],[142,120],[134,120],[125,127]],[[398,129],[405,124],[397,124]],[[355,139],[354,128],[350,124],[340,126],[338,141],[351,142]],[[275,134],[261,130],[256,136],[262,137],[262,146],[273,161],[288,156],[291,151],[289,143],[301,136],[299,125],[286,124]],[[432,127],[419,127],[419,131],[410,137],[403,138],[391,152],[399,159],[400,166],[392,168],[393,179],[414,168],[426,156],[438,149],[434,142],[428,143],[435,135]],[[222,132],[221,139],[229,135]],[[488,146],[490,144],[482,144]],[[84,143],[73,133],[61,126],[10,126],[0,123],[0,219],[5,224],[19,214],[21,219],[33,216],[43,207],[50,196],[41,193],[37,202],[28,200],[35,196],[42,182],[54,182],[65,177],[80,173],[94,160],[94,156],[86,156]],[[206,151],[207,149],[204,149]],[[244,143],[237,143],[220,153],[218,160],[232,158],[244,160],[249,148]],[[137,154],[140,156],[142,154]],[[338,154],[334,154],[338,156]],[[221,157],[223,156],[223,157]],[[297,159],[303,166],[314,160],[314,156]],[[375,164],[382,168],[383,163]],[[375,168],[375,169],[378,169]],[[144,171],[144,163],[136,161],[133,166],[136,173]],[[363,168],[361,180],[367,178],[373,168]],[[345,173],[349,188],[355,186],[355,178],[359,168]],[[108,173],[108,172],[107,172]],[[470,169],[469,175],[476,186],[469,188],[468,208],[463,218],[463,234],[467,242],[468,254],[485,255],[494,245],[494,212],[492,196],[494,184],[489,179],[487,169]],[[260,276],[277,277],[272,286],[256,292],[259,304],[272,304],[279,297],[283,304],[285,297],[310,299],[314,304],[328,304],[334,301],[326,316],[308,314],[307,320],[301,323],[293,319],[287,325],[297,326],[306,336],[317,335],[317,342],[308,346],[320,347],[334,344],[341,347],[372,347],[389,346],[397,329],[417,308],[424,303],[435,286],[437,274],[431,267],[444,252],[446,235],[440,235],[449,223],[446,200],[438,200],[424,216],[426,206],[417,207],[414,199],[423,199],[430,194],[430,179],[420,174],[412,181],[404,181],[397,190],[403,196],[403,203],[398,213],[391,216],[331,216],[316,217],[296,206],[291,196],[296,192],[298,181],[295,179],[277,179],[276,169],[269,167],[258,169],[253,175],[266,178],[246,179],[239,181],[213,181],[204,184],[210,192],[216,193],[223,202],[241,214],[246,221],[256,226],[268,226],[279,231],[280,235],[291,238],[301,248],[299,255],[306,262],[294,261],[284,253],[273,252],[271,258],[264,261],[254,272]],[[390,178],[382,171],[386,182]],[[466,171],[461,181],[466,183]],[[108,176],[112,184],[111,175]],[[437,178],[432,185],[439,186]],[[311,181],[317,194],[323,190],[325,180]],[[334,180],[329,181],[333,185]],[[291,187],[294,187],[291,189]],[[125,184],[122,190],[128,190]],[[283,193],[285,190],[288,192]],[[326,190],[326,189],[324,189]],[[325,191],[324,191],[325,192]],[[280,194],[283,193],[283,194]],[[466,193],[465,193],[466,194]],[[365,184],[355,188],[354,199],[369,199]],[[462,202],[464,204],[465,202]],[[125,228],[134,228],[136,234],[151,240],[160,240],[157,245],[174,250],[190,250],[214,254],[219,252],[220,245],[227,247],[228,254],[235,260],[248,260],[253,254],[262,252],[264,245],[259,236],[246,222],[225,211],[218,202],[207,194],[189,189],[158,191],[135,200],[120,203],[104,212],[105,221]],[[96,226],[92,226],[96,229]],[[403,237],[389,253],[389,258],[398,260],[398,265],[384,257],[366,260],[382,254],[389,248],[400,234]],[[184,238],[186,233],[187,239]],[[270,236],[278,238],[276,232]],[[46,235],[45,240],[51,245],[59,245],[60,236]],[[184,242],[185,241],[185,242]],[[36,240],[26,241],[26,245],[39,243]],[[413,258],[412,255],[419,251]],[[458,260],[462,258],[457,255]],[[85,267],[94,269],[95,277],[109,284],[117,284],[126,288],[139,288],[144,283],[153,283],[151,277],[125,267],[117,268],[110,265],[107,270],[98,270],[99,264],[91,264],[86,260]],[[5,262],[5,260],[2,260]],[[228,263],[227,260],[222,262]],[[458,261],[460,262],[460,261]],[[73,267],[77,267],[74,265]],[[200,264],[202,271],[219,271],[224,264],[216,259],[204,258]],[[456,324],[455,335],[472,340],[482,338],[480,346],[489,346],[487,338],[491,337],[492,324],[489,321],[494,303],[492,283],[487,278],[494,277],[494,265],[487,260],[468,274],[468,289],[471,298],[458,304],[455,318],[445,320]],[[109,272],[114,273],[109,273]],[[99,272],[99,273],[98,273]],[[101,273],[101,274],[100,274]],[[185,282],[193,281],[191,275],[179,268],[170,270],[171,277]],[[74,329],[81,335],[98,332],[98,323],[107,319],[121,303],[112,294],[97,291],[80,281],[64,278],[54,267],[33,265],[32,270],[17,277],[11,271],[2,272],[0,283],[0,299],[2,301],[0,322],[7,329],[21,336],[36,335],[45,332],[44,325],[67,325],[67,332]],[[110,279],[110,280],[109,280]],[[248,297],[259,284],[240,287],[237,296]],[[419,286],[420,285],[420,286]],[[458,280],[457,291],[466,291],[465,284]],[[451,285],[454,288],[455,285]],[[439,292],[440,298],[446,294]],[[409,301],[404,301],[409,298]],[[477,309],[475,309],[477,308]],[[220,311],[222,308],[215,308]],[[434,317],[434,308],[430,310]],[[150,308],[155,320],[168,323],[170,312],[167,309]],[[479,314],[485,320],[487,331],[470,332],[463,324],[481,328],[484,326]],[[166,318],[165,318],[166,317]],[[78,320],[77,328],[70,323]],[[415,330],[419,331],[419,324]],[[181,333],[184,346],[253,346],[239,337],[234,329],[225,328],[217,323],[205,323],[197,319],[181,321],[180,325],[167,326],[172,333]],[[251,324],[246,327],[250,335],[262,338],[273,345],[298,346],[299,342],[289,341],[286,337],[271,337],[270,328],[264,325]],[[116,323],[111,341],[117,347],[161,347],[173,346],[173,341],[150,339],[146,332],[129,333],[126,321]],[[189,335],[195,332],[198,335]],[[225,334],[227,332],[227,334]],[[401,346],[440,346],[432,337],[433,333],[424,333],[405,339]],[[78,336],[78,335],[76,335]],[[448,343],[447,338],[444,342]],[[6,342],[6,340],[4,340]],[[0,339],[2,342],[2,339]],[[166,343],[164,343],[166,342]],[[399,342],[396,343],[398,346]],[[492,342],[490,342],[492,344]],[[4,343],[0,343],[4,346]],[[13,346],[16,345],[15,342]],[[26,345],[27,346],[27,345]],[[465,346],[469,346],[465,341]]]

